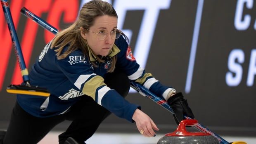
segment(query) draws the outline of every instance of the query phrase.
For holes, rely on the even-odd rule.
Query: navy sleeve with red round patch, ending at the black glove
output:
[[[146,73],[145,69],[137,64],[130,46],[122,36],[116,40],[116,46],[121,49],[121,52],[118,55],[116,68],[125,71],[130,80],[140,83],[154,94],[167,100],[170,92],[172,92],[172,90],[175,91],[175,89],[173,87],[162,85],[151,73]]]

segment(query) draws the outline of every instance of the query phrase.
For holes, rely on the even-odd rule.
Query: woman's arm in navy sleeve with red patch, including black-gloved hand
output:
[[[145,73],[145,69],[137,64],[124,38],[120,37],[116,40],[116,45],[121,49],[117,59],[117,68],[123,70],[130,80],[140,83],[158,97],[163,97],[168,101],[168,104],[174,110],[174,118],[177,124],[184,119],[184,115],[194,118],[192,110],[188,106],[187,100],[183,98],[182,93],[176,94],[173,87],[162,85],[151,73]]]

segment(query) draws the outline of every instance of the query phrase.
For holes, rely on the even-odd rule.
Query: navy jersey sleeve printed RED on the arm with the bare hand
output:
[[[110,89],[104,83],[104,78],[94,73],[92,64],[85,59],[82,52],[72,52],[65,59],[56,59],[56,63],[66,78],[83,94],[92,97],[97,104],[116,116],[133,122],[133,113],[140,106],[130,104],[116,90]]]

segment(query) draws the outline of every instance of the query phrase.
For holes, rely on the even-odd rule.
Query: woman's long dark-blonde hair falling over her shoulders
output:
[[[87,32],[87,29],[94,24],[95,18],[103,15],[117,18],[114,7],[108,2],[104,2],[102,0],[92,0],[85,3],[79,12],[78,19],[71,26],[57,33],[55,38],[52,40],[51,48],[57,47],[55,49],[55,52],[57,52],[57,59],[66,58],[71,52],[77,50],[78,48],[82,50],[85,56],[89,57],[88,43],[87,40],[82,38],[80,27]],[[69,48],[62,53],[62,50],[66,45],[69,45]],[[95,55],[95,57],[99,62],[104,62],[104,60],[97,55]],[[112,64],[108,72],[114,71],[116,59],[116,56],[112,57]],[[92,62],[92,64],[97,67],[94,62]]]

